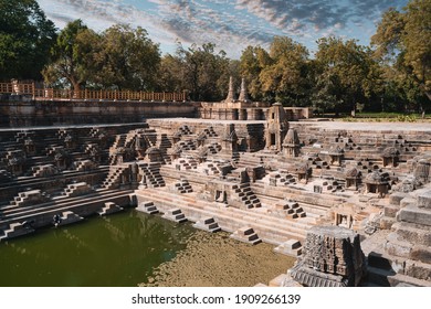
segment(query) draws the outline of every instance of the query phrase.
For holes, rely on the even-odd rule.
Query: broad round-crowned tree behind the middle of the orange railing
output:
[[[117,89],[155,89],[160,52],[145,29],[117,24],[105,30],[101,38],[94,55],[97,84]]]

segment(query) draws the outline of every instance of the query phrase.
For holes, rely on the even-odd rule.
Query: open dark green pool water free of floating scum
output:
[[[195,233],[135,210],[0,243],[0,286],[136,286]]]

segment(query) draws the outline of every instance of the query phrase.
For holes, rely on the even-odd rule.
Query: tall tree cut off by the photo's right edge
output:
[[[411,0],[403,12],[383,13],[371,38],[375,55],[413,81],[431,100],[431,0]],[[419,106],[422,109],[422,106]]]

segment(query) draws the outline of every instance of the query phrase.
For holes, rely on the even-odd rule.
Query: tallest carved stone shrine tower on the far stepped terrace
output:
[[[287,115],[281,103],[274,103],[269,109],[266,117],[265,148],[269,150],[281,151],[287,130]]]

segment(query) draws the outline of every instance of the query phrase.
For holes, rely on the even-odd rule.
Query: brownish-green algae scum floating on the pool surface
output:
[[[267,285],[286,273],[295,258],[273,253],[273,245],[255,246],[229,238],[228,233],[198,231],[187,248],[161,264],[139,286],[160,287],[250,287]]]

